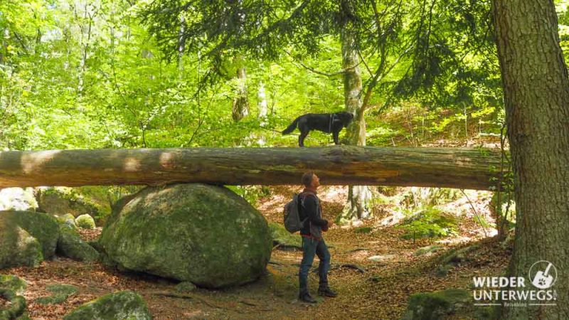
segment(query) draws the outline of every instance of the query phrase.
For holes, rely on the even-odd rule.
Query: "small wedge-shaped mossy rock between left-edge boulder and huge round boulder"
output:
[[[99,257],[99,252],[81,240],[77,231],[66,224],[60,225],[57,252],[63,257],[83,262],[92,262]]]

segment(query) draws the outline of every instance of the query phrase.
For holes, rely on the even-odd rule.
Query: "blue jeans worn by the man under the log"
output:
[[[318,277],[320,279],[319,289],[328,287],[328,271],[330,270],[330,252],[324,239],[316,240],[302,237],[302,262],[300,262],[299,287],[300,294],[308,293],[308,272],[312,267],[314,255],[317,255],[320,263],[318,265]]]

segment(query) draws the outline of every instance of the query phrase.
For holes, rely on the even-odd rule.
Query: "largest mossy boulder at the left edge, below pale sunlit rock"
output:
[[[36,266],[55,255],[59,223],[53,216],[0,211],[0,269]]]

